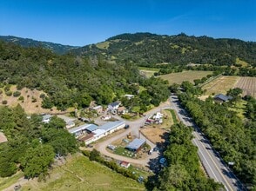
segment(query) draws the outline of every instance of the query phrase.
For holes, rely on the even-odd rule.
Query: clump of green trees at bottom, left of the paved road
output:
[[[192,144],[192,128],[172,125],[170,144],[165,150],[167,166],[158,175],[153,190],[221,190],[223,186],[205,176],[197,147]]]

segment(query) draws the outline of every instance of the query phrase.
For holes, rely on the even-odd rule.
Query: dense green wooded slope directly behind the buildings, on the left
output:
[[[125,94],[136,95],[132,107],[145,112],[169,95],[161,79],[146,79],[131,63],[107,63],[103,56],[59,56],[49,49],[21,48],[0,42],[0,88],[12,95],[10,84],[44,90],[43,107],[87,107],[91,101],[108,104]],[[7,94],[6,94],[7,95]],[[124,100],[125,101],[125,100]]]

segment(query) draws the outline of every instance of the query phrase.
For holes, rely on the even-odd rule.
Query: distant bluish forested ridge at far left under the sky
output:
[[[77,46],[63,45],[60,43],[50,43],[43,41],[36,41],[30,38],[21,38],[17,36],[0,36],[0,40],[8,43],[16,43],[22,47],[42,47],[44,49],[51,49],[52,52],[57,54],[65,54],[71,49],[77,49]]]

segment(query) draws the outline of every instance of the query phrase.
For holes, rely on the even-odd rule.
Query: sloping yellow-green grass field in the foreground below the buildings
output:
[[[76,155],[63,166],[53,168],[47,181],[27,181],[22,190],[145,190],[145,187],[82,155]]]

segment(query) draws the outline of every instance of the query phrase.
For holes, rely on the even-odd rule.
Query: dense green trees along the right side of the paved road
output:
[[[184,82],[189,84],[189,82]],[[231,166],[235,175],[247,186],[256,185],[256,123],[255,99],[246,96],[246,119],[243,120],[235,111],[228,109],[232,102],[239,101],[239,89],[228,91],[233,96],[232,102],[219,104],[209,97],[205,101],[199,100],[195,95],[200,94],[199,87],[190,84],[179,94],[179,99],[188,110],[199,128],[204,132],[219,152],[223,160],[233,162]]]

